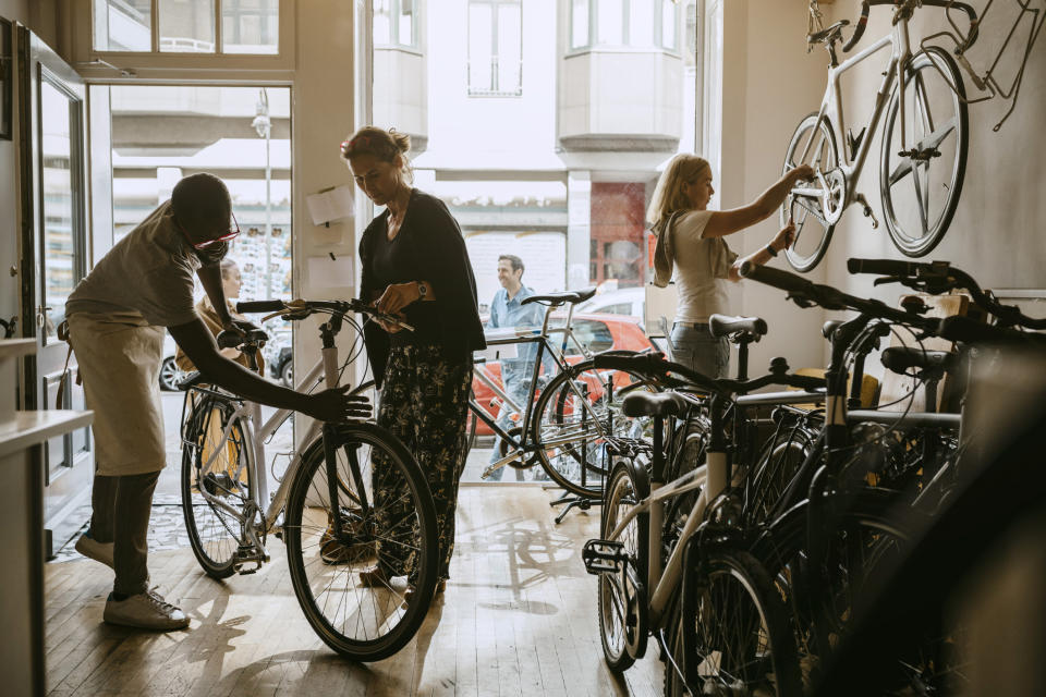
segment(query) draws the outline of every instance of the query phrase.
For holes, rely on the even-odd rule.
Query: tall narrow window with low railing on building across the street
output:
[[[523,94],[523,22],[520,0],[470,0],[469,94]]]

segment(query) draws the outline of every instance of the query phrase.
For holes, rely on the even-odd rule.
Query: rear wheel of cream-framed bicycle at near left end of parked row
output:
[[[641,474],[642,473],[642,474]],[[613,531],[618,522],[628,514],[629,509],[649,496],[649,482],[645,470],[636,469],[630,463],[615,465],[607,482],[600,516],[600,536],[603,539]],[[646,554],[648,546],[649,515],[641,513],[625,526],[619,538],[624,545],[628,562],[620,572],[599,575],[596,594],[596,611],[599,617],[599,643],[607,668],[613,673],[623,673],[635,663],[646,648],[646,626],[642,626],[641,616],[646,613],[632,606],[645,600],[636,594],[629,576],[628,566],[646,584]],[[633,586],[632,590],[629,587]]]

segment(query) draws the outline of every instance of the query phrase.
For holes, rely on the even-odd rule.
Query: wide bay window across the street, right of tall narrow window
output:
[[[571,0],[570,47],[674,50],[677,12],[672,0]]]

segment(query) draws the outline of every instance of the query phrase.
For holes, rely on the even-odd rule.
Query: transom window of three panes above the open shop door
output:
[[[93,0],[92,8],[96,51],[279,53],[280,0]]]

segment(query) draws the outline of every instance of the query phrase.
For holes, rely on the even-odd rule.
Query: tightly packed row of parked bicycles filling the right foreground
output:
[[[1032,386],[1046,334],[1029,330],[1046,319],[947,262],[849,269],[921,293],[895,308],[742,270],[802,307],[856,313],[825,325],[824,377],[777,358],[750,379],[747,345],[767,332],[757,318],[711,322],[740,347],[733,379],[660,355],[595,356],[597,369],[633,376],[615,394],[631,426],[609,443],[600,537],[583,550],[611,670],[656,643],[666,695],[981,694],[966,690],[987,659],[949,603],[1006,530],[1043,512],[1032,453],[1046,392]],[[934,317],[933,296],[954,292],[989,321]],[[885,370],[914,387],[868,408],[864,362],[887,337]],[[780,391],[757,392],[769,386]]]

